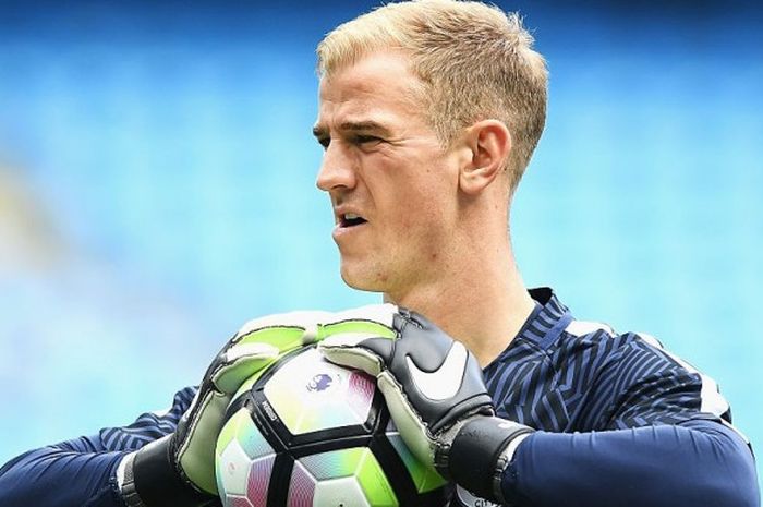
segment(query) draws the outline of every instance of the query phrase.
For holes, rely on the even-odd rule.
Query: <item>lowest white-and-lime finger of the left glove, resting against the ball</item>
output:
[[[269,343],[238,343],[226,351],[225,361],[211,381],[221,393],[233,395],[246,378],[267,367],[279,353]]]

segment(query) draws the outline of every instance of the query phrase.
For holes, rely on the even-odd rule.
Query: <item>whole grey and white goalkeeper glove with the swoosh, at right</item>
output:
[[[474,355],[425,317],[384,304],[374,318],[391,338],[337,335],[319,350],[377,378],[400,435],[422,462],[482,498],[502,502],[504,469],[533,430],[494,415]]]

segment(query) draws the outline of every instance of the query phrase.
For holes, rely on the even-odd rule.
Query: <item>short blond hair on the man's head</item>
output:
[[[519,184],[546,120],[548,71],[517,13],[474,1],[390,3],[330,32],[318,45],[318,75],[371,52],[393,49],[411,58],[422,100],[438,137],[449,145],[465,126],[498,119],[513,147],[510,191]]]

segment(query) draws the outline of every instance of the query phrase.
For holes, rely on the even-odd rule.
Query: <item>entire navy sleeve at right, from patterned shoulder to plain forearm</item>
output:
[[[654,339],[623,343],[591,386],[594,431],[519,445],[501,481],[511,505],[758,507],[749,442],[715,383]]]

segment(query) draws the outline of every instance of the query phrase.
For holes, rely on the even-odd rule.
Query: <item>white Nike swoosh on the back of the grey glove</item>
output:
[[[443,364],[434,372],[420,370],[410,355],[405,361],[416,389],[431,400],[443,401],[456,396],[461,387],[468,357],[467,348],[455,341]]]

